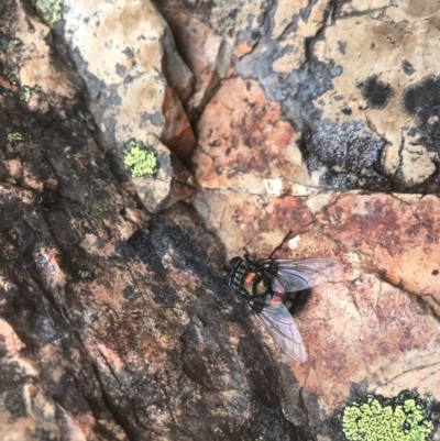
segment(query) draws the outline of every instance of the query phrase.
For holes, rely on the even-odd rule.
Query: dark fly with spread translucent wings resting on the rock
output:
[[[332,258],[233,257],[223,266],[223,282],[240,293],[258,322],[290,359],[307,361],[307,351],[285,304],[289,293],[336,278],[343,265]]]

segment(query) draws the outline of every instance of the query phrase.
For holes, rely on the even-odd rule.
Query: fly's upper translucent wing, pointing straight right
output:
[[[292,258],[258,261],[272,275],[275,291],[299,291],[332,280],[343,273],[343,265],[332,258]]]

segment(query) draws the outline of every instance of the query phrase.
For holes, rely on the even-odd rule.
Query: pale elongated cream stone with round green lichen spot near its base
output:
[[[195,145],[179,100],[191,91],[193,74],[154,5],[64,1],[55,30],[86,81],[105,148],[121,156],[134,139],[157,152],[160,176],[131,180],[144,206],[156,211],[189,197],[194,180],[176,156],[185,159]]]

